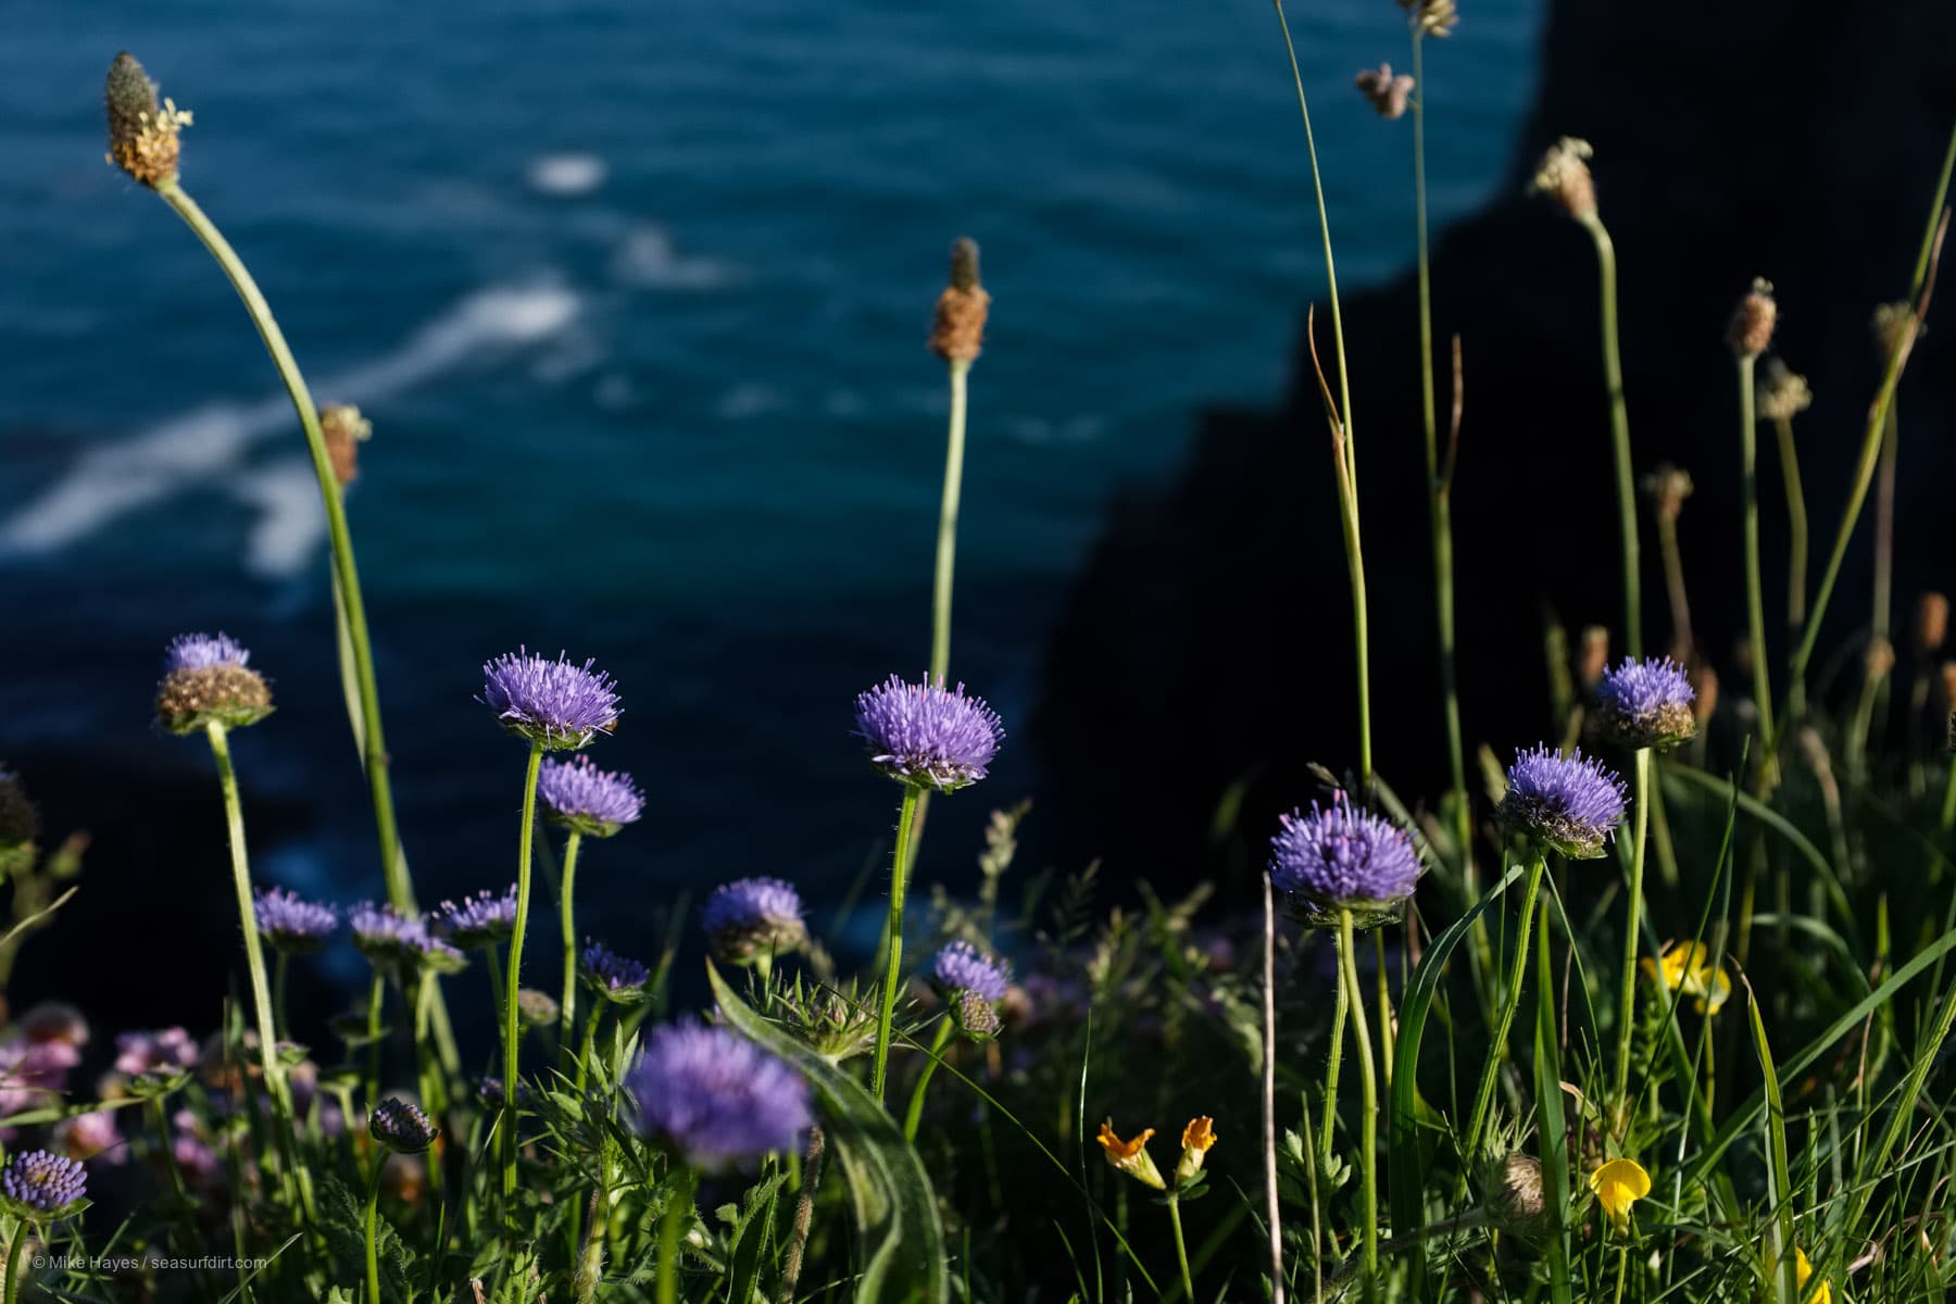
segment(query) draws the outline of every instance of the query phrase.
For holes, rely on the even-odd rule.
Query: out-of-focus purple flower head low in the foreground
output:
[[[638,1130],[702,1171],[792,1150],[812,1122],[800,1073],[737,1032],[692,1021],[645,1038],[626,1089]]]

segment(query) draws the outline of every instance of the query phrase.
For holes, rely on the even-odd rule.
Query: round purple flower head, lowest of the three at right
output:
[[[1330,807],[1277,817],[1269,839],[1269,882],[1299,897],[1312,913],[1352,907],[1395,907],[1420,882],[1420,852],[1391,819],[1352,805],[1344,792]]]

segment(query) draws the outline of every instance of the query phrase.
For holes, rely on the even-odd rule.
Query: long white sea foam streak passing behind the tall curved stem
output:
[[[393,354],[327,377],[315,393],[334,403],[374,405],[424,385],[485,352],[522,348],[563,330],[577,317],[577,295],[561,285],[497,285],[458,301]],[[260,508],[248,542],[248,565],[288,573],[317,542],[319,522],[299,520],[284,467],[244,471],[252,446],[291,432],[291,405],[207,403],[127,440],[92,448],[67,475],[0,520],[0,559],[49,553],[86,540],[125,512],[186,489],[235,477],[225,487]],[[303,463],[301,463],[303,465]],[[311,473],[307,471],[307,479]],[[319,510],[317,485],[311,510]],[[297,559],[293,559],[297,557]]]

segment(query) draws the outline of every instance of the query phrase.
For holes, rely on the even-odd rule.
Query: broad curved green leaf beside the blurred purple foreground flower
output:
[[[857,1281],[857,1304],[935,1304],[949,1298],[945,1230],[937,1195],[904,1130],[863,1085],[757,1015],[720,978],[712,962],[706,979],[726,1021],[798,1067],[816,1089],[829,1146],[849,1177],[857,1232],[867,1249]]]

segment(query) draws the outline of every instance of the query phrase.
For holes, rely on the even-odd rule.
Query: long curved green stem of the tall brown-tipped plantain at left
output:
[[[417,909],[415,884],[407,872],[407,856],[401,854],[401,833],[393,815],[393,780],[387,768],[387,739],[379,721],[379,684],[374,676],[374,643],[368,633],[366,600],[360,594],[360,567],[354,563],[354,540],[346,528],[346,504],[340,495],[340,481],[333,473],[333,459],[327,456],[327,436],[319,428],[319,409],[313,405],[305,375],[299,373],[299,364],[286,344],[286,332],[278,328],[278,319],[272,317],[272,305],[266,303],[258,282],[252,280],[244,268],[244,260],[231,248],[217,223],[198,207],[198,201],[178,186],[176,178],[160,184],[156,196],[184,219],[184,225],[196,233],[203,248],[217,260],[225,278],[229,278],[231,287],[244,303],[244,313],[258,328],[258,338],[264,340],[264,348],[272,356],[272,366],[278,368],[278,375],[286,383],[286,393],[291,397],[291,407],[299,414],[299,426],[305,430],[305,448],[313,459],[313,475],[319,479],[319,499],[327,508],[327,538],[333,547],[333,581],[338,596],[336,614],[344,618],[346,647],[352,653],[354,686],[360,696],[356,741],[368,776],[368,792],[374,802],[374,827],[379,835],[379,864],[387,882],[387,901],[397,911],[411,913]],[[440,1038],[442,1065],[450,1073],[460,1073],[462,1056],[456,1050],[454,1030],[448,1022],[448,1005],[440,993],[436,993],[434,1028]]]

